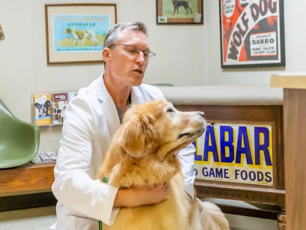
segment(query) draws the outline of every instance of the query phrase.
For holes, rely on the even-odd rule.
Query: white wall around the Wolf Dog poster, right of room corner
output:
[[[306,2],[284,1],[286,67],[221,69],[219,5],[217,0],[206,0],[207,77],[209,85],[270,84],[275,72],[306,71],[304,21]]]

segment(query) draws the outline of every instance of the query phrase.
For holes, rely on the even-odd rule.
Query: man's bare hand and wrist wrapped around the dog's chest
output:
[[[154,186],[133,186],[128,189],[119,189],[114,201],[114,208],[137,207],[140,205],[157,204],[164,201],[170,188],[167,183]]]

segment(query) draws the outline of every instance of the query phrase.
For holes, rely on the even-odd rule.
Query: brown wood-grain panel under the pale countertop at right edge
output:
[[[284,89],[286,229],[306,226],[306,90]]]

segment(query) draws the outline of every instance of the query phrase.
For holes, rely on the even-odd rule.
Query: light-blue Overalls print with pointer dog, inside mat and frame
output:
[[[53,14],[54,53],[102,52],[108,14]]]

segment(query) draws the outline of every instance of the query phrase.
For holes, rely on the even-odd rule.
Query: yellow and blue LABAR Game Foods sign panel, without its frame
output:
[[[272,126],[208,124],[193,144],[197,179],[273,186]]]

